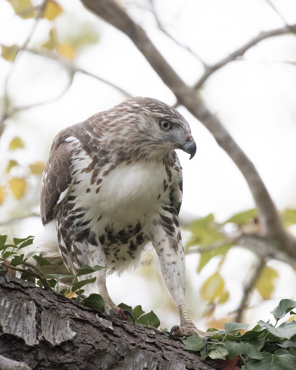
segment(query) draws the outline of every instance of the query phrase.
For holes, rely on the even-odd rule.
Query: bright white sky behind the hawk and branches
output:
[[[175,103],[171,91],[161,83],[125,35],[85,11],[79,1],[58,2],[66,12],[73,14],[75,21],[71,19],[70,23],[73,31],[77,23],[86,20],[100,33],[100,42],[85,49],[78,57],[75,63],[79,67],[125,88],[135,96],[150,96],[168,104]],[[296,1],[273,0],[272,3],[287,23],[296,23]],[[145,0],[133,1],[129,3],[129,13],[144,27],[155,46],[186,83],[194,84],[202,73],[201,63],[157,30],[154,17],[145,10],[148,5]],[[260,31],[284,26],[279,15],[263,0],[156,0],[155,5],[165,29],[209,64],[221,60]],[[60,16],[56,22],[59,29],[67,29],[69,18]],[[31,20],[23,21],[14,16],[7,1],[0,0],[0,43],[21,44],[31,27]],[[40,40],[45,42],[49,28],[50,23],[46,20],[40,22],[30,45],[34,46]],[[261,42],[250,49],[242,60],[232,62],[213,74],[201,91],[208,107],[218,115],[255,164],[280,210],[296,207],[296,66],[283,61],[296,61],[296,36]],[[10,63],[0,59],[1,86],[10,67]],[[44,70],[48,73],[45,74]],[[9,81],[9,93],[16,106],[31,104],[57,96],[66,84],[67,73],[57,63],[26,54],[17,61]],[[27,157],[22,158],[25,163],[46,161],[51,142],[61,128],[108,109],[121,100],[124,97],[111,87],[91,77],[75,74],[72,86],[60,100],[7,120],[8,127],[0,141],[0,155],[4,158],[0,161],[0,170],[6,166],[5,147],[16,134],[31,143]],[[213,212],[218,221],[224,221],[233,213],[252,208],[254,202],[248,186],[228,155],[218,147],[202,124],[184,108],[180,107],[179,111],[191,125],[197,144],[196,155],[191,161],[188,161],[188,154],[178,152],[184,169],[182,210],[196,216]],[[36,194],[38,197],[38,192]],[[18,215],[16,205],[17,202],[11,200],[6,202],[0,210],[1,219],[5,221]],[[26,205],[26,199],[23,205]],[[27,223],[24,236],[27,236],[28,228],[29,233],[34,235],[41,228],[41,223]],[[191,257],[187,261],[189,271],[194,271],[197,258]],[[239,270],[240,267],[233,266],[229,276],[234,289],[231,275],[237,277]],[[289,271],[288,268],[286,278],[295,280]],[[243,279],[242,273],[238,280]],[[124,283],[120,280],[116,284],[124,292]],[[141,284],[140,278],[138,284]],[[118,289],[114,285],[110,293],[114,290],[115,294]],[[130,290],[132,296],[132,290],[142,292],[143,289],[134,287]],[[146,299],[146,308],[149,309],[147,296],[151,297],[151,292],[146,293],[141,299]],[[132,304],[132,297],[126,293],[122,296],[124,302]],[[139,296],[137,298],[136,304],[139,300],[142,302]],[[293,299],[293,296],[289,298]],[[270,309],[277,301],[271,303]],[[171,326],[174,324],[169,319],[168,322]]]

